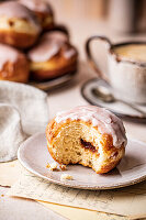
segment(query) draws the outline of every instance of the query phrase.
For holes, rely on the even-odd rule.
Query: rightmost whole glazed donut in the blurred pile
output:
[[[35,80],[56,78],[77,69],[77,50],[69,44],[68,35],[59,31],[45,33],[27,56]]]

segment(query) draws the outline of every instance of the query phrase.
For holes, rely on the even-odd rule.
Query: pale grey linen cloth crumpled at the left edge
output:
[[[16,157],[20,144],[48,123],[47,95],[34,87],[0,81],[0,162]]]

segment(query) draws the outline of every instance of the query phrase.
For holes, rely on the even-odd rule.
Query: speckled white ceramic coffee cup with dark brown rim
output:
[[[90,43],[94,40],[104,41],[108,44],[109,73],[106,77],[99,69],[91,53]],[[90,64],[99,77],[110,84],[114,96],[136,103],[146,103],[146,54],[143,48],[146,50],[146,42],[126,42],[113,45],[109,38],[98,35],[89,37],[86,43]],[[131,51],[135,53],[131,53]],[[142,57],[142,55],[144,56]],[[139,61],[139,57],[143,61]]]

